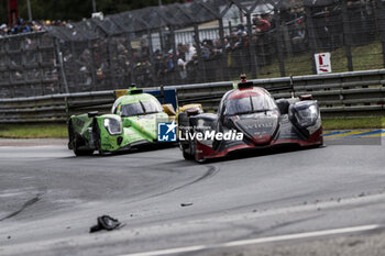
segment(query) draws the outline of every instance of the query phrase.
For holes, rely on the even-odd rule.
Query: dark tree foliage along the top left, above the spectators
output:
[[[33,20],[65,20],[79,21],[90,18],[92,13],[92,0],[30,0]],[[158,0],[95,0],[97,11],[105,15],[141,9],[150,5],[158,5]],[[26,0],[18,0],[19,16],[28,20]],[[162,0],[163,4],[185,2],[180,0]],[[0,22],[8,23],[8,0],[0,3]]]

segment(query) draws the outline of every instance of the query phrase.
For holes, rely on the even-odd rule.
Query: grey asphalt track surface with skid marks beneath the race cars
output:
[[[384,134],[369,135],[204,165],[0,140],[0,255],[384,255]],[[125,225],[89,234],[103,214]]]

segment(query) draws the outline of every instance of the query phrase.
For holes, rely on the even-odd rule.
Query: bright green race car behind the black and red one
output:
[[[68,121],[68,148],[76,156],[86,156],[95,151],[102,155],[156,143],[157,123],[172,119],[169,105],[164,108],[154,96],[131,88],[116,100],[111,114],[89,112],[72,115]]]

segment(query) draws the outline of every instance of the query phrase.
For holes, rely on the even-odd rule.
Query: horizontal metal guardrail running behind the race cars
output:
[[[323,116],[385,115],[385,69],[293,77],[295,94],[311,93],[319,101]],[[268,89],[287,87],[289,77],[253,80]],[[170,88],[170,87],[167,87]],[[216,111],[221,97],[233,88],[232,81],[174,86],[178,103],[200,102],[206,111]],[[154,89],[154,88],[147,88]],[[292,93],[278,90],[275,98]],[[0,99],[0,123],[65,122],[66,104],[70,114],[99,110],[109,112],[113,91],[95,91]]]

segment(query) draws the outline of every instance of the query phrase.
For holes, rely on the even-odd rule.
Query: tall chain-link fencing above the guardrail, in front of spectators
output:
[[[195,0],[0,38],[0,97],[384,67],[384,0]]]

